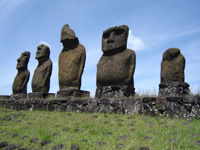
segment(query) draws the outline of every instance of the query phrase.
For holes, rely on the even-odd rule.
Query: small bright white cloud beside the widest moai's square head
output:
[[[132,30],[129,31],[128,48],[135,51],[141,51],[146,48],[144,41],[141,37],[134,36]]]

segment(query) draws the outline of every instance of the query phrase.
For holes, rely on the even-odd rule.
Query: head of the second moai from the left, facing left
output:
[[[43,58],[49,58],[50,55],[50,49],[48,46],[44,44],[40,44],[37,47],[36,57],[35,59],[43,59]]]

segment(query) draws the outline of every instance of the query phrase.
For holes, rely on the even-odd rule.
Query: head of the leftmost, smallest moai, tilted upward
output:
[[[17,69],[26,69],[29,58],[30,58],[31,53],[28,51],[25,51],[21,54],[21,56],[17,59]]]

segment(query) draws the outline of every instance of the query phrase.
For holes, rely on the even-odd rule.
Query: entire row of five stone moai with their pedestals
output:
[[[111,27],[103,32],[102,51],[97,64],[96,94],[97,98],[130,97],[134,96],[134,72],[136,55],[127,49],[129,28],[126,25]],[[75,32],[68,24],[61,31],[60,42],[63,49],[59,55],[59,91],[57,97],[88,97],[89,92],[80,90],[86,51],[79,43]],[[38,66],[32,78],[31,97],[53,95],[48,93],[52,73],[52,61],[49,59],[50,49],[41,44],[37,47],[36,59]],[[12,98],[23,97],[27,94],[29,71],[27,69],[30,52],[24,52],[17,60],[18,74],[13,83]],[[163,54],[161,63],[161,83],[159,96],[183,96],[189,94],[189,84],[184,82],[185,58],[178,48],[170,48]]]

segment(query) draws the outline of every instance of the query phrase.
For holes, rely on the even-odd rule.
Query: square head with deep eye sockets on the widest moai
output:
[[[103,32],[102,50],[110,51],[127,45],[128,26],[112,27]]]

